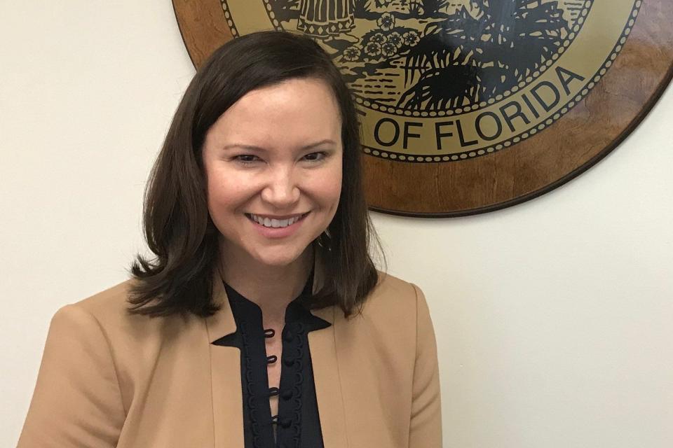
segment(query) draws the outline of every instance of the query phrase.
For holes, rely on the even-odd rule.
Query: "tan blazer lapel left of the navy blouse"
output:
[[[236,332],[224,285],[215,276],[213,298],[220,309],[205,319],[210,345],[210,379],[215,448],[243,448],[243,393],[240,389],[240,350],[212,344]]]

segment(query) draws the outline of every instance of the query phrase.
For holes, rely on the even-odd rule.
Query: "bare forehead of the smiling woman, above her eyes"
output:
[[[294,78],[247,92],[208,133],[218,141],[264,147],[322,139],[341,143],[341,114],[325,81]]]

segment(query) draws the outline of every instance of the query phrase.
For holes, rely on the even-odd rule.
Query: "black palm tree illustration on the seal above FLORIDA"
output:
[[[426,26],[406,56],[405,85],[411,87],[398,107],[453,109],[487,101],[529,78],[568,34],[557,0],[471,3],[471,13],[463,7]]]

